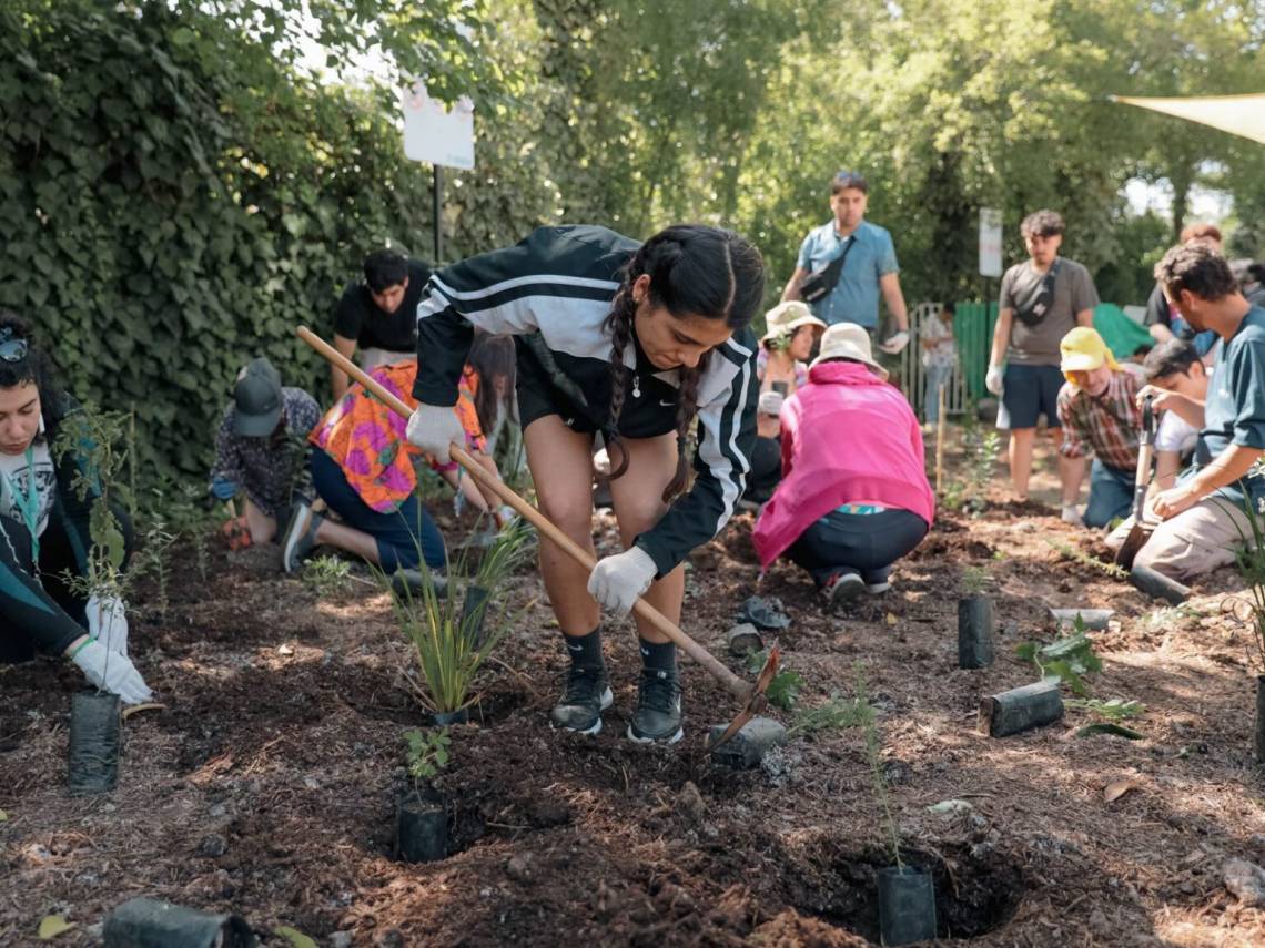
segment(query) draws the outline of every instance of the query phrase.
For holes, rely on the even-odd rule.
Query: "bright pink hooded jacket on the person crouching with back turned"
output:
[[[760,564],[813,521],[859,502],[910,511],[929,526],[936,506],[904,396],[859,363],[827,362],[782,406],[782,483],[751,537]]]

